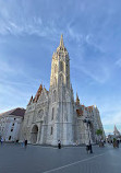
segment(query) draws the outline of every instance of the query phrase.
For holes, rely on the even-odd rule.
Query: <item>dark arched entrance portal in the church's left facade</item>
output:
[[[31,137],[32,143],[37,142],[37,136],[38,136],[38,126],[34,125],[32,128],[32,137]]]

